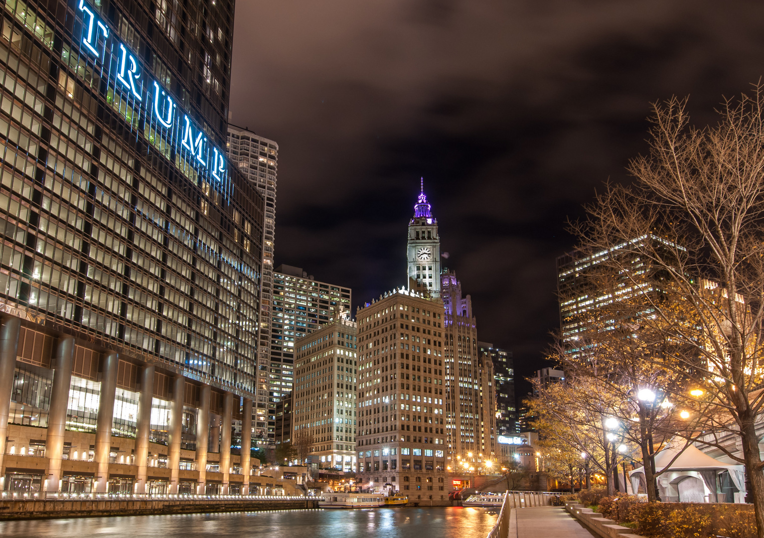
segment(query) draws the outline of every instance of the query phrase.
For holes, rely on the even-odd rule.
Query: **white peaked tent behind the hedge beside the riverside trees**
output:
[[[744,502],[746,478],[742,465],[720,462],[694,445],[685,448],[684,442],[677,441],[656,454],[656,471],[666,467],[669,469],[658,477],[662,501]],[[644,467],[634,469],[629,476],[633,491],[646,485]],[[720,488],[724,495],[717,493]]]

